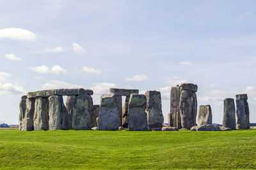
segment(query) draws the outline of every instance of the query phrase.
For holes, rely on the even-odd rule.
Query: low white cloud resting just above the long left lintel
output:
[[[69,88],[81,88],[81,85],[67,83],[65,81],[51,80],[42,85],[42,89],[69,89]]]

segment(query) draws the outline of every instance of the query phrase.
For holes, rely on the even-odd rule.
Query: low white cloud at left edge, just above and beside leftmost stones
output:
[[[26,94],[26,91],[23,87],[13,85],[12,83],[0,83],[0,94]]]

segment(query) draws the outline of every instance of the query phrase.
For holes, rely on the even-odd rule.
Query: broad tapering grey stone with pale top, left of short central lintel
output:
[[[116,131],[120,126],[120,117],[115,94],[102,94],[99,108],[99,130]]]

